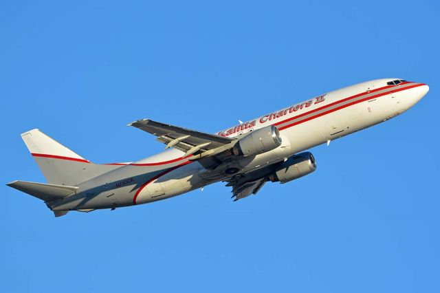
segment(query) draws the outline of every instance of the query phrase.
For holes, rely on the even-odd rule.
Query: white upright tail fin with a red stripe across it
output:
[[[119,167],[93,164],[39,129],[22,133],[21,138],[49,184],[76,186]]]

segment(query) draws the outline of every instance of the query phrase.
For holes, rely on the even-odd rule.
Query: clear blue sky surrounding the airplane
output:
[[[2,1],[0,290],[439,292],[439,13],[404,0]],[[133,120],[215,132],[383,77],[430,92],[312,149],[316,173],[239,202],[214,184],[55,219],[4,185],[45,181],[19,135],[35,127],[93,162],[133,161],[163,149]]]

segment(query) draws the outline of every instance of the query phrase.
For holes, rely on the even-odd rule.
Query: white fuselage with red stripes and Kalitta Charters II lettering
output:
[[[121,164],[120,168],[110,173],[80,184],[79,187],[84,191],[99,184],[120,184],[118,188],[109,188],[109,191],[84,201],[80,208],[129,206],[166,199],[213,182],[227,180],[231,175],[226,175],[223,171],[230,167],[240,169],[240,173],[248,173],[285,160],[318,144],[384,122],[408,110],[428,92],[428,86],[421,83],[387,85],[387,82],[396,79],[371,80],[330,91],[292,107],[219,131],[217,135],[231,138],[274,124],[280,130],[283,142],[272,151],[233,160],[219,166],[215,171],[207,171],[197,161],[182,158],[184,153],[175,149],[131,164]],[[124,177],[127,173],[132,174],[131,177]],[[121,180],[135,184],[125,185]],[[54,209],[72,208],[69,204]]]

